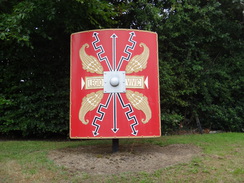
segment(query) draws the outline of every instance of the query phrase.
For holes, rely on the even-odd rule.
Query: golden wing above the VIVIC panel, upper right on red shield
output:
[[[146,44],[140,43],[140,47],[143,47],[144,50],[140,55],[134,56],[129,63],[127,64],[125,71],[127,74],[133,73],[133,72],[139,72],[142,71],[147,67],[147,61],[150,54],[149,48]]]

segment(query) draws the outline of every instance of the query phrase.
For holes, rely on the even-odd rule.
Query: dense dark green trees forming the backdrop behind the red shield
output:
[[[70,34],[158,33],[163,134],[179,124],[243,131],[241,0],[0,0],[0,134],[69,127]]]

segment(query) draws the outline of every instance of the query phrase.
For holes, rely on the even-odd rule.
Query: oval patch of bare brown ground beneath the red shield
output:
[[[49,153],[49,158],[71,172],[111,175],[123,172],[153,172],[167,166],[185,163],[201,150],[189,144],[160,147],[151,144],[120,145],[111,153],[109,145],[65,148]]]

